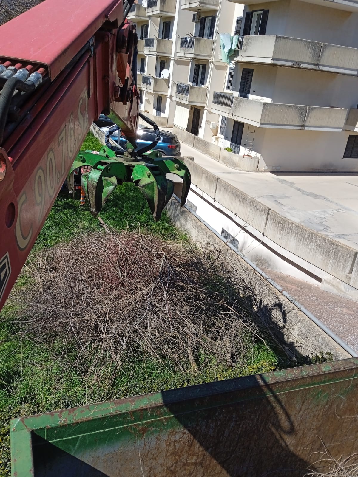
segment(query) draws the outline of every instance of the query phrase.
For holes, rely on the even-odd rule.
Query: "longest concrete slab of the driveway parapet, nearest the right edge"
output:
[[[265,235],[295,255],[347,283],[356,250],[270,210]]]

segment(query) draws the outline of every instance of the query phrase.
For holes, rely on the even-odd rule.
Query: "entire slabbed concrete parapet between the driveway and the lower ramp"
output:
[[[358,289],[358,258],[355,249],[285,218],[195,162],[186,161],[186,164],[190,169],[192,184],[216,202],[283,249],[329,274],[332,280],[341,280]]]

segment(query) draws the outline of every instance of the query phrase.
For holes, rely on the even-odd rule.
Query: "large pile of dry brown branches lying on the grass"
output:
[[[195,373],[244,364],[257,340],[280,344],[250,284],[210,245],[99,233],[43,249],[24,273],[28,285],[12,296],[19,328],[44,344],[75,343],[80,372],[91,371],[88,362],[149,359]]]

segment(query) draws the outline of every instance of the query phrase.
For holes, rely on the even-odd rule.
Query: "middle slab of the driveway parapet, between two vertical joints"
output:
[[[269,207],[222,179],[218,179],[215,200],[248,224],[263,232],[270,210]]]

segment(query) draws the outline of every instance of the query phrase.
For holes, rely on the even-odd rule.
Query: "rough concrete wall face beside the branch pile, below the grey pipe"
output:
[[[247,296],[253,301],[254,308],[263,317],[264,313],[272,312],[288,347],[293,345],[296,353],[301,355],[318,354],[323,351],[333,353],[335,359],[344,359],[350,356],[187,209],[180,208],[177,200],[172,198],[168,202],[167,210],[174,225],[187,232],[195,242],[203,245],[210,243],[223,251],[233,269],[242,277],[242,282],[249,284],[245,293],[247,292]],[[281,326],[283,315],[286,323]]]

